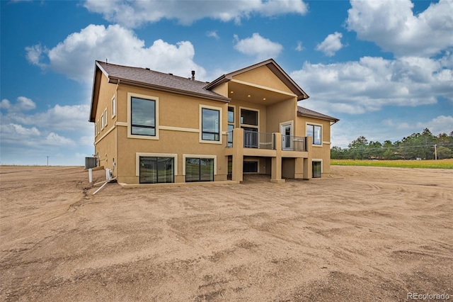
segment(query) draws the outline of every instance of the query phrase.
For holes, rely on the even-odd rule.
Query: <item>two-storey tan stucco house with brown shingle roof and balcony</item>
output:
[[[98,165],[124,184],[322,177],[338,119],[297,106],[308,97],[272,59],[213,82],[96,61]]]

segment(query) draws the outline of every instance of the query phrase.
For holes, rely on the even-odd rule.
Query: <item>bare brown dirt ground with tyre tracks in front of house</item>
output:
[[[82,167],[0,168],[1,301],[453,300],[452,170],[96,189]]]

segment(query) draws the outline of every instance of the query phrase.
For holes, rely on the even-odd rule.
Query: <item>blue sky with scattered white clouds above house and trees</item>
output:
[[[105,59],[212,81],[273,57],[340,147],[453,131],[453,0],[0,4],[1,164],[84,164]]]

